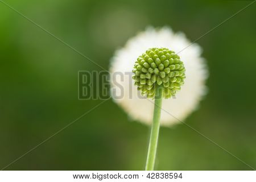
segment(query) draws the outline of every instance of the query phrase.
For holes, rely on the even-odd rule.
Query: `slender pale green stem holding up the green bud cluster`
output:
[[[159,86],[156,84],[154,117],[153,117],[153,122],[151,127],[150,143],[148,145],[147,162],[146,162],[146,169],[145,169],[146,171],[154,170],[156,148],[158,147],[158,134],[159,134],[159,127],[160,127],[162,97],[163,97],[163,86]]]

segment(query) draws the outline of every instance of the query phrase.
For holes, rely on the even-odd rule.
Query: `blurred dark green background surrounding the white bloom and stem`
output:
[[[196,40],[252,1],[14,1],[11,7],[105,69],[148,25]],[[99,104],[77,99],[77,72],[96,65],[0,2],[0,168]],[[256,3],[197,43],[209,93],[186,122],[256,168]],[[150,127],[112,100],[8,170],[143,170]],[[185,125],[160,129],[159,170],[250,170]]]

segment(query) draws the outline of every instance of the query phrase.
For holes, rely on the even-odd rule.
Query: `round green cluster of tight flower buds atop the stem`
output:
[[[155,84],[164,86],[164,98],[174,96],[184,84],[185,68],[180,57],[167,48],[150,48],[135,61],[133,80],[142,95],[155,97]]]

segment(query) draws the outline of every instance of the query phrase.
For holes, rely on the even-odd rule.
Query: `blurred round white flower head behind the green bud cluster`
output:
[[[183,33],[175,34],[169,27],[159,29],[149,27],[146,31],[140,32],[137,36],[131,38],[125,47],[115,52],[110,65],[111,90],[114,101],[131,118],[151,124],[154,103],[146,97],[142,98],[137,86],[134,85],[134,81],[131,79],[131,74],[127,73],[131,73],[138,56],[142,55],[148,48],[166,47],[180,56],[186,69],[186,78],[175,98],[163,100],[162,108],[165,111],[162,110],[160,123],[164,126],[170,126],[179,122],[178,119],[183,121],[197,108],[204,96],[206,91],[205,80],[208,77],[205,60],[201,57],[201,48],[197,44],[189,45],[191,45],[191,42],[185,38]],[[113,73],[117,72],[123,73],[125,76],[122,77],[117,74],[119,76],[115,76],[113,80]],[[121,98],[116,97],[120,95],[122,95]]]

